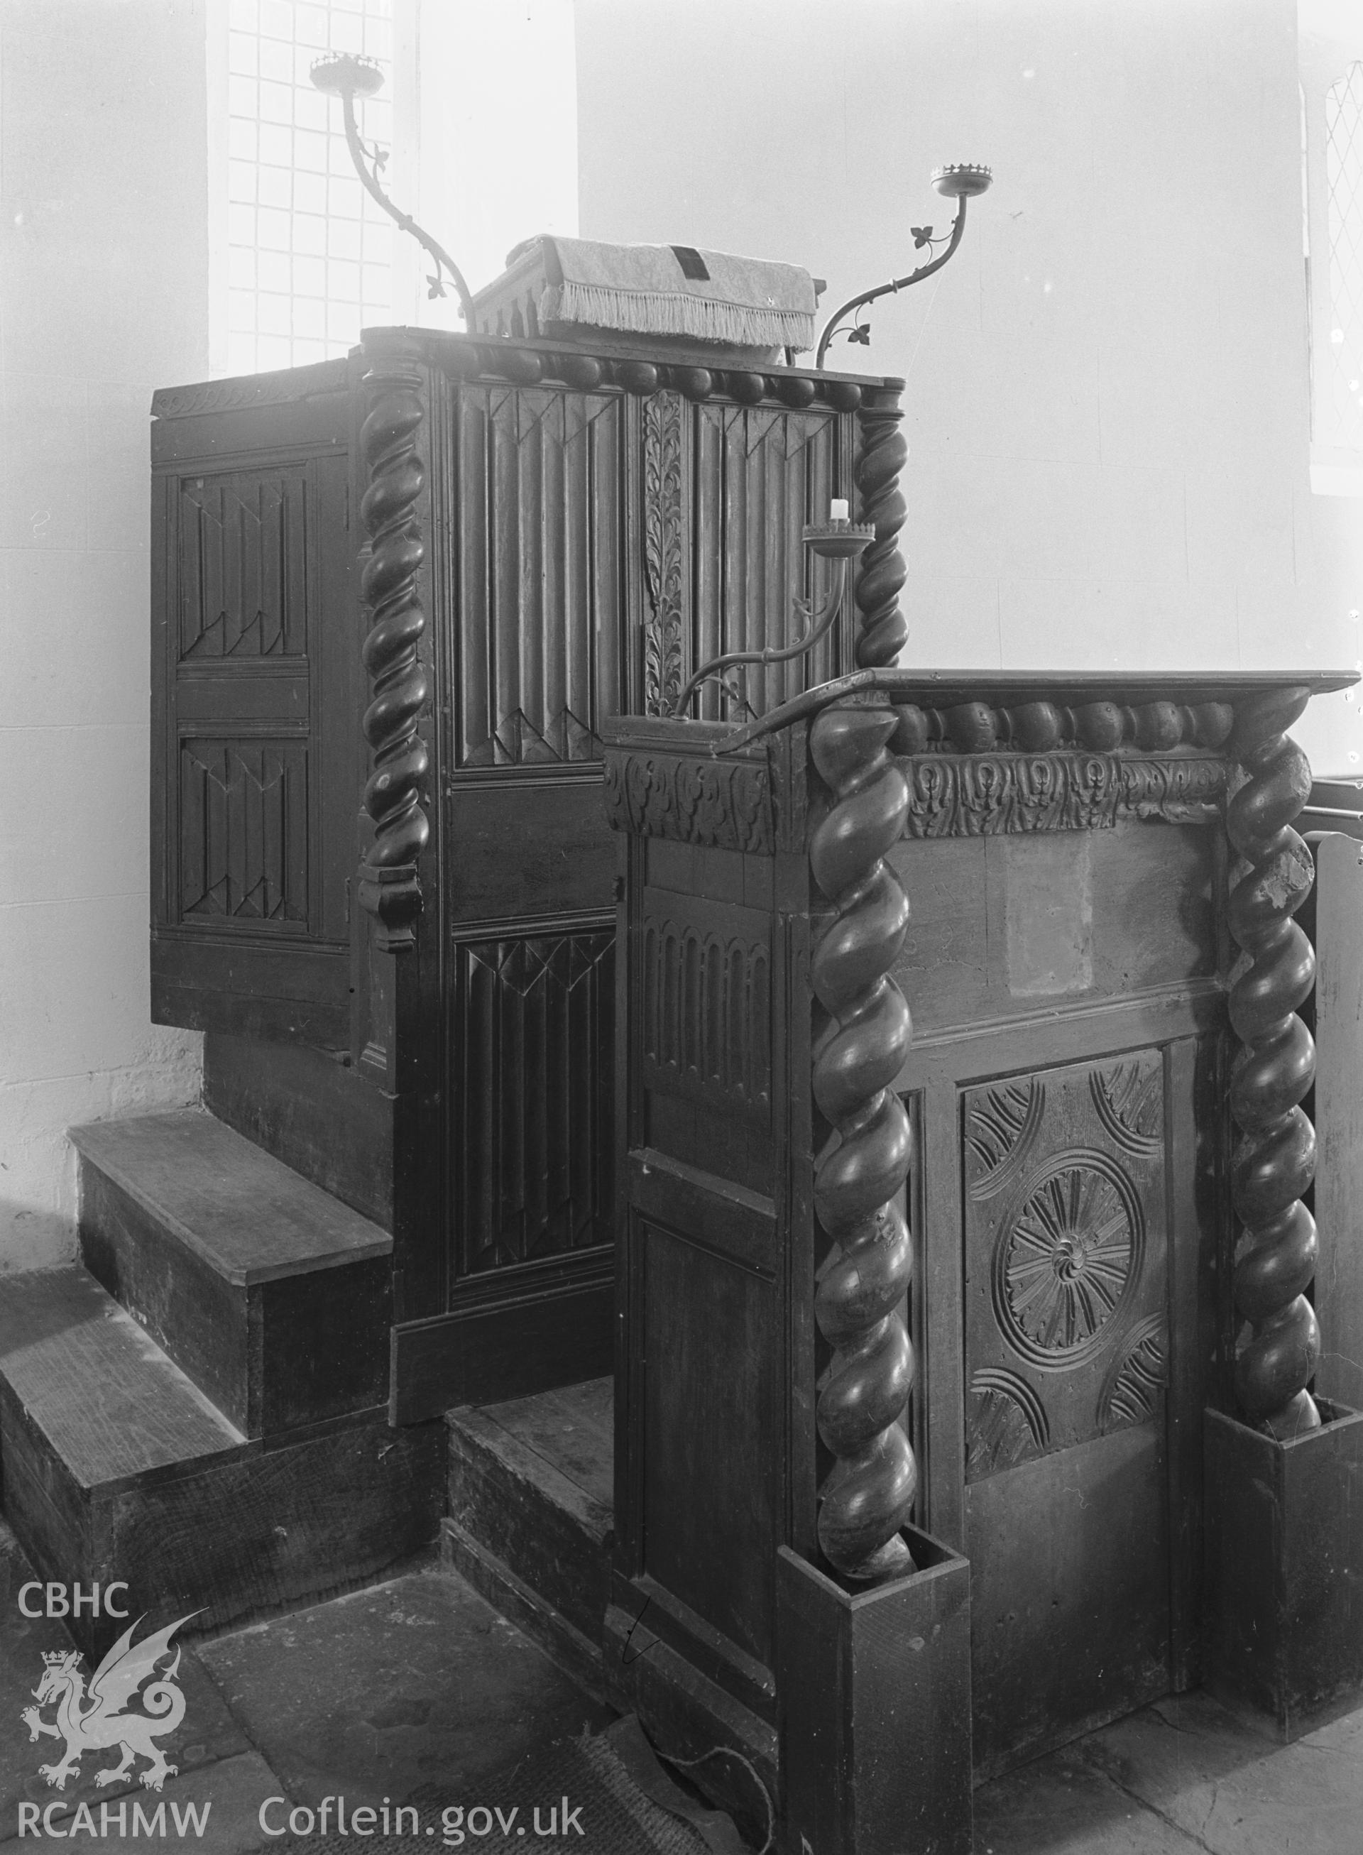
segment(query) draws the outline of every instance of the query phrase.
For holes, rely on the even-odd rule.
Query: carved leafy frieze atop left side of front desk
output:
[[[760,761],[701,761],[638,749],[606,755],[614,831],[770,855],[771,781]]]

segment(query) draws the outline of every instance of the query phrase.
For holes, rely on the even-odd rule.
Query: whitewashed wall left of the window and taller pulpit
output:
[[[72,1122],[187,1102],[146,979],[148,406],[208,365],[202,9],[0,7],[0,1271]]]

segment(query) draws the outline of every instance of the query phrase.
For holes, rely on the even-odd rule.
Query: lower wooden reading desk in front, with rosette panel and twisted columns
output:
[[[1346,681],[608,725],[610,1692],[790,1855],[966,1855],[972,1783],[1144,1701],[1363,1673],[1285,735]]]

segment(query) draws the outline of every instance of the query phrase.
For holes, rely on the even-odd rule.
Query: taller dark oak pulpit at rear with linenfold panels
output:
[[[391,1230],[404,1417],[605,1369],[603,733],[788,640],[833,497],[888,545],[899,453],[860,492],[857,460],[896,393],[376,330],[156,395],[154,1015],[210,1033],[215,1113]]]

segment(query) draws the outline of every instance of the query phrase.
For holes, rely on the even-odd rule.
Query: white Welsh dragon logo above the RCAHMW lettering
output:
[[[189,1616],[198,1616],[198,1612],[191,1610]],[[141,1623],[141,1618],[137,1618],[137,1623],[130,1623],[95,1670],[89,1694],[85,1692],[85,1677],[80,1671],[82,1657],[78,1649],[59,1649],[56,1655],[43,1657],[43,1679],[33,1688],[37,1707],[26,1707],[20,1720],[28,1727],[32,1742],[39,1736],[65,1738],[67,1742],[65,1757],[57,1764],[41,1764],[37,1768],[48,1785],[65,1790],[67,1779],[72,1773],[80,1773],[83,1753],[106,1751],[111,1746],[121,1747],[122,1759],[119,1764],[109,1764],[102,1772],[96,1772],[96,1785],[111,1785],[117,1777],[128,1777],[135,1759],[148,1760],[146,1770],[141,1773],[141,1783],[148,1790],[159,1790],[167,1777],[174,1775],[178,1766],[165,1762],[165,1753],[156,1740],[167,1733],[174,1733],[185,1716],[185,1697],[174,1681],[180,1671],[180,1649],[174,1651],[174,1660],[161,1673],[159,1681],[152,1681],[141,1694],[141,1703],[146,1710],[130,1714],[122,1712],[122,1708],[132,1701],[146,1677],[156,1671],[156,1664],[163,1657],[169,1657],[171,1636],[180,1629],[180,1623],[189,1621],[189,1616],[167,1623],[165,1629],[154,1631],[154,1634],[143,1638],[137,1645],[134,1645],[132,1632]],[[56,1701],[57,1707],[56,1725],[39,1718],[39,1708],[46,1707],[48,1701]]]

